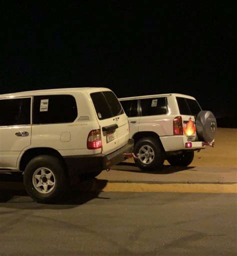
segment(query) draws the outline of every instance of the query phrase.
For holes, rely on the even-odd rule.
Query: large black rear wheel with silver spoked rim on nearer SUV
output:
[[[38,180],[38,183],[35,183],[37,182],[37,178],[35,176],[43,176],[42,169],[44,171],[43,173],[50,173],[51,171],[52,175],[50,178],[47,178],[47,181],[45,181],[45,179],[43,181],[43,177],[40,177],[41,181]],[[35,174],[35,178],[33,178],[34,173],[40,174]],[[51,183],[54,183],[54,185],[47,185],[50,180],[52,180]],[[40,203],[50,203],[56,201],[60,198],[62,194],[65,194],[65,190],[68,188],[68,178],[65,175],[62,161],[57,157],[49,155],[39,155],[31,159],[24,169],[23,181],[25,190],[27,191],[29,196]],[[38,191],[44,189],[43,184],[45,183],[43,182],[47,182],[47,193],[43,193],[43,191]],[[35,187],[39,183],[42,185],[39,186],[37,190]],[[50,191],[50,189],[52,190]]]

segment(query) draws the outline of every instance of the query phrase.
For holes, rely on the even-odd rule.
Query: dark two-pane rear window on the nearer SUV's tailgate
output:
[[[90,93],[90,97],[100,120],[124,113],[121,104],[112,91],[93,92]]]

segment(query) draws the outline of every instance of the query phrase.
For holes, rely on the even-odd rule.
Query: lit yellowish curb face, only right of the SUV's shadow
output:
[[[237,193],[237,184],[107,183],[102,188],[102,191],[104,192]]]

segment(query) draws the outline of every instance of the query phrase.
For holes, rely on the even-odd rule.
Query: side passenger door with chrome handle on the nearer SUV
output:
[[[31,97],[0,99],[0,168],[16,168],[31,142]]]

